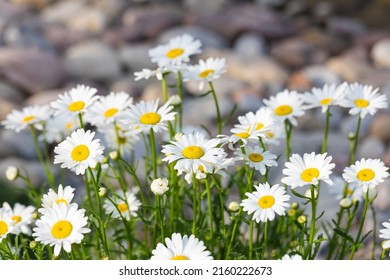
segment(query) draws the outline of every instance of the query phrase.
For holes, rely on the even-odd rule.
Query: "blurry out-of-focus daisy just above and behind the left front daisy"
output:
[[[59,143],[77,128],[80,128],[80,122],[76,116],[54,116],[46,121],[45,133],[39,135],[39,138],[47,143]]]

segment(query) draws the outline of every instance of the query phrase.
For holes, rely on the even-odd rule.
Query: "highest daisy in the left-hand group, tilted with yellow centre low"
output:
[[[78,85],[72,88],[51,103],[55,110],[54,115],[78,115],[84,113],[89,106],[99,99],[99,96],[95,95],[96,93],[97,89],[85,85]]]

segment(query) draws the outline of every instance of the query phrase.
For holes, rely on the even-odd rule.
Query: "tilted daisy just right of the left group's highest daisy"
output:
[[[123,116],[123,111],[130,107],[133,98],[125,92],[111,92],[101,96],[85,114],[85,121],[95,126],[113,123]]]

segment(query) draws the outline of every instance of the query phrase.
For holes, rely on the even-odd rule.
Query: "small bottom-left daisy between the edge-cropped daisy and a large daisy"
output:
[[[31,235],[30,225],[33,222],[34,206],[24,206],[16,202],[12,208],[7,202],[3,202],[3,208],[11,212],[15,232]]]

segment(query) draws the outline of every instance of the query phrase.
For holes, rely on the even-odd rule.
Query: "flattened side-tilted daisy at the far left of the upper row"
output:
[[[20,132],[29,126],[42,130],[43,123],[51,117],[52,113],[52,109],[47,105],[29,106],[23,108],[22,111],[12,110],[1,124],[5,128],[15,130],[16,132]]]

